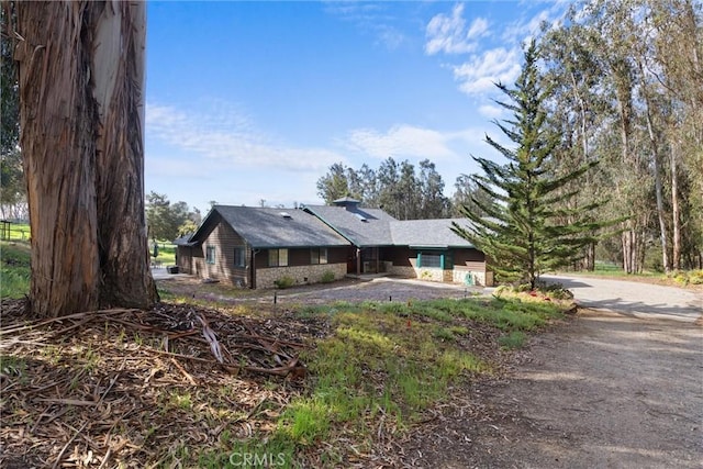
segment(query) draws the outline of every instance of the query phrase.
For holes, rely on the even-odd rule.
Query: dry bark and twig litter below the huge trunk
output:
[[[276,425],[301,392],[298,354],[324,328],[172,304],[25,324],[22,309],[2,304],[7,468],[185,467],[197,448],[226,453]],[[216,331],[224,364],[199,315]]]

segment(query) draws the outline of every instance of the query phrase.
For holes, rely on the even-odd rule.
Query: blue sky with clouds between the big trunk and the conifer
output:
[[[454,192],[493,157],[521,44],[565,1],[152,1],[146,191],[209,201],[322,203],[331,165],[436,165]],[[417,169],[419,171],[419,169]]]

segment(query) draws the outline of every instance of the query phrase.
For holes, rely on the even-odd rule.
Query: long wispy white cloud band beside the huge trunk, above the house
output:
[[[147,103],[146,133],[193,156],[244,167],[320,171],[344,157],[325,148],[277,144],[244,115],[226,109],[186,112]]]

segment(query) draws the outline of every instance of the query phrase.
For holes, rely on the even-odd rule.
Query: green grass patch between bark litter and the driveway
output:
[[[336,428],[370,445],[381,421],[402,432],[425,410],[448,399],[450,386],[491,373],[489,362],[457,346],[470,332],[466,320],[500,328],[504,335],[496,345],[516,348],[525,332],[561,313],[554,303],[466,299],[336,303],[305,306],[300,314],[326,317],[335,327],[303,357],[313,384],[291,402],[276,432],[277,437],[306,447],[334,439]],[[334,460],[338,455],[327,456]]]

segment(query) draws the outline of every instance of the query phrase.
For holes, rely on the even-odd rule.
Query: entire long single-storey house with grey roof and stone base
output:
[[[246,288],[284,277],[314,283],[381,273],[492,284],[486,256],[451,231],[466,219],[395,220],[343,198],[294,210],[214,205],[198,231],[179,238],[179,271]]]

